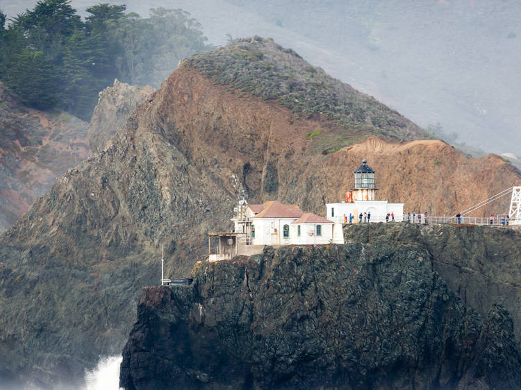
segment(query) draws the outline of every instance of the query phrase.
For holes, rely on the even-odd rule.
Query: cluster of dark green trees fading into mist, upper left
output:
[[[209,49],[201,25],[180,9],[142,18],[100,3],[87,12],[82,19],[70,0],[40,0],[7,26],[0,12],[0,80],[24,103],[89,120],[114,78],[158,87],[179,60]]]

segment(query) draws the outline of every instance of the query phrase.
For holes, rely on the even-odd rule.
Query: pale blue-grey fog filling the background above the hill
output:
[[[73,0],[80,13],[100,1]],[[13,17],[36,1],[0,0]],[[183,8],[208,43],[273,37],[311,64],[456,144],[520,156],[521,29],[517,0],[151,0]]]

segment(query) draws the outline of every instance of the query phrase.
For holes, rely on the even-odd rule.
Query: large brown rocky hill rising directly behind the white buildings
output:
[[[365,95],[352,92],[350,101],[348,86],[327,92],[353,108],[340,120],[304,115],[281,96],[261,99],[233,87],[235,78],[221,85],[197,69],[218,53],[232,56],[240,42],[261,47],[274,63],[281,58],[277,69],[288,58],[302,64],[259,38],[182,62],[110,146],[58,178],[0,238],[0,311],[15,313],[0,322],[0,375],[76,385],[84,368],[124,346],[140,289],[160,278],[161,244],[167,275],[187,275],[206,253],[207,232],[231,226],[239,198],[324,214],[324,203],[342,200],[363,158],[377,171],[380,198],[431,214],[450,214],[520,180],[495,155],[471,159],[432,139],[397,141],[422,130]],[[258,62],[238,58],[230,69],[240,64],[246,74]],[[310,97],[309,107],[320,99]],[[388,121],[360,125],[356,112],[366,119],[383,112]]]

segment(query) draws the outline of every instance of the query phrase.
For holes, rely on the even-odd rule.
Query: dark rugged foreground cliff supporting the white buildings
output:
[[[438,245],[462,230],[352,226],[345,246],[196,264],[191,286],[144,289],[120,385],[517,389],[521,356],[508,312],[492,304],[479,314],[435,271],[450,257]],[[463,241],[479,246],[478,235],[499,242],[490,228]]]

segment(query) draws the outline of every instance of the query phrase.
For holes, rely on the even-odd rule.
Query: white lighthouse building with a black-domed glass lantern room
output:
[[[336,223],[349,223],[349,214],[352,215],[352,223],[364,221],[364,213],[370,214],[370,222],[385,222],[389,214],[392,221],[404,219],[404,203],[388,203],[388,201],[377,201],[378,189],[374,182],[374,170],[363,160],[362,165],[354,171],[354,188],[345,194],[345,202],[327,203],[326,218]],[[362,214],[362,219],[360,215]]]

